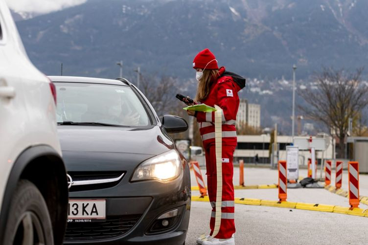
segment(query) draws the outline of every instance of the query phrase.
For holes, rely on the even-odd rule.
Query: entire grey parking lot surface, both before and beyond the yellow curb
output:
[[[191,172],[192,186],[197,184]],[[202,169],[206,182],[206,169]],[[333,172],[334,174],[334,172]],[[299,176],[305,177],[305,169]],[[245,168],[245,185],[277,183],[277,171],[270,168]],[[318,173],[319,176],[319,173]],[[324,177],[324,176],[323,176]],[[239,168],[234,168],[234,185],[239,185]],[[331,184],[334,185],[332,179]],[[320,182],[320,184],[324,184]],[[360,176],[361,195],[368,195],[368,176]],[[343,189],[348,190],[347,171],[343,174]],[[199,191],[192,191],[198,196]],[[237,189],[235,198],[278,200],[274,189]],[[349,206],[348,198],[322,189],[288,189],[288,201]],[[368,206],[360,204],[360,208]],[[196,238],[208,232],[211,208],[208,202],[192,201],[186,244],[196,244]],[[368,218],[337,213],[299,209],[235,204],[235,243],[243,244],[367,244]],[[297,241],[297,242],[296,242]]]

